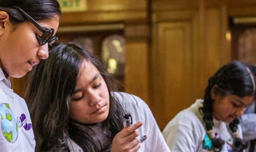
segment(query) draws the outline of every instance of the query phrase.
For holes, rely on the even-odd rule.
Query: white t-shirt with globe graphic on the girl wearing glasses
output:
[[[27,104],[10,87],[10,80],[0,68],[0,151],[34,151],[34,133]]]

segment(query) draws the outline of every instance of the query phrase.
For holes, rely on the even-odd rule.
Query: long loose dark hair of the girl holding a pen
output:
[[[102,122],[102,131],[111,131],[111,141],[123,128],[123,109],[112,96],[114,79],[98,58],[73,44],[58,44],[29,77],[26,101],[36,139],[36,151],[69,151],[70,137],[83,151],[102,151],[98,141],[86,130],[89,126],[69,119],[71,96],[83,61],[91,62],[102,75],[110,94],[110,112]],[[106,135],[107,136],[107,135]]]

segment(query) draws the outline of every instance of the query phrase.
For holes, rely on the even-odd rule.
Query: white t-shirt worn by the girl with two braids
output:
[[[206,145],[209,144],[209,138],[205,131],[203,114],[199,108],[203,107],[203,100],[198,99],[189,108],[179,112],[163,130],[163,137],[171,151],[209,151]],[[221,151],[231,151],[233,139],[228,124],[218,121],[214,118],[214,127],[216,138],[225,141]],[[242,138],[241,126],[238,125],[240,138]],[[213,151],[213,150],[210,150]]]

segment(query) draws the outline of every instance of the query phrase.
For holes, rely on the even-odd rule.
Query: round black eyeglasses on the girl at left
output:
[[[17,9],[19,12],[21,12],[41,33],[42,35],[39,36],[38,35],[38,44],[39,45],[44,45],[46,43],[48,43],[48,49],[50,50],[58,41],[57,37],[53,37],[54,34],[54,29],[50,28],[50,29],[45,29],[42,28],[29,14],[27,14],[25,11],[23,11],[21,8],[17,7],[17,6],[12,6],[13,8]],[[42,37],[47,34],[47,32],[52,31],[50,37],[45,41],[42,42]],[[55,40],[55,42],[50,45],[50,42],[52,42],[53,40]]]

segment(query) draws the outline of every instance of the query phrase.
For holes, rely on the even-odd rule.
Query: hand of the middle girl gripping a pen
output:
[[[142,122],[137,122],[128,128],[125,125],[122,131],[114,137],[111,152],[138,151],[140,148],[140,140],[136,137],[139,136],[139,132],[135,130],[140,128],[141,125]]]

